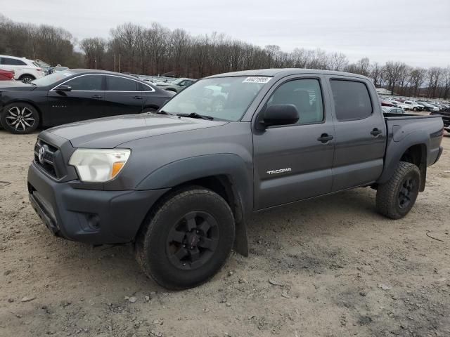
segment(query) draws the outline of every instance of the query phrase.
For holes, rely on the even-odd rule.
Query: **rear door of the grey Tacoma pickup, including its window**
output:
[[[329,81],[335,117],[333,192],[377,180],[383,171],[386,126],[375,90],[365,79]]]

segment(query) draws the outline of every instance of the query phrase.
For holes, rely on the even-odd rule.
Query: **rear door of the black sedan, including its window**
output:
[[[105,75],[105,111],[107,114],[139,114],[143,109],[144,96],[141,83],[116,75]]]

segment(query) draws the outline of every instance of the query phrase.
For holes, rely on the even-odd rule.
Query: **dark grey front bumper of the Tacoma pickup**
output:
[[[89,244],[131,242],[164,190],[105,191],[58,183],[34,164],[28,169],[30,202],[58,237]]]

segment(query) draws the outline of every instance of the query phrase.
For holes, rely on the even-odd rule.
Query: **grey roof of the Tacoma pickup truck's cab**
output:
[[[317,70],[317,69],[304,69],[304,68],[270,68],[270,69],[257,69],[257,70],[243,70],[241,72],[226,72],[224,74],[212,75],[210,77],[227,77],[227,76],[265,76],[265,77],[275,77],[275,76],[288,76],[294,74],[327,74],[335,76],[351,76],[359,77],[361,79],[367,79],[367,77],[353,74],[350,72],[333,72],[330,70]],[[209,77],[209,78],[210,78]]]

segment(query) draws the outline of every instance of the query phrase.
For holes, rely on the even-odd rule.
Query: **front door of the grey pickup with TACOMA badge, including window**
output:
[[[321,81],[290,77],[271,89],[266,105],[295,105],[300,119],[264,131],[254,128],[255,210],[330,192],[335,139]]]

